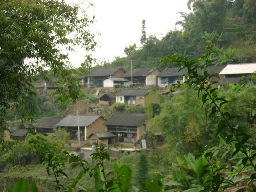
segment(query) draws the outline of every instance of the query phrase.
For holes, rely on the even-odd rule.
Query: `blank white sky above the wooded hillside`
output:
[[[73,0],[76,2],[75,0]],[[90,7],[88,16],[95,15],[96,22],[90,30],[100,32],[95,41],[99,48],[92,52],[94,58],[113,61],[115,56],[124,57],[124,48],[136,43],[140,47],[142,35],[142,20],[146,21],[145,31],[147,37],[156,35],[157,38],[165,36],[175,27],[177,21],[182,20],[177,12],[189,12],[188,0],[91,0],[95,7]],[[88,2],[88,1],[87,1]],[[95,33],[96,35],[96,33]],[[79,67],[84,60],[85,52],[75,48],[68,56],[75,67]]]

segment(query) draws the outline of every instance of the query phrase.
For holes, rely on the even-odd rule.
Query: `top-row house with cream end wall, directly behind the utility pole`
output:
[[[138,68],[126,72],[122,77],[133,81],[134,86],[154,86],[158,85],[157,76],[161,73],[157,67],[155,68]]]

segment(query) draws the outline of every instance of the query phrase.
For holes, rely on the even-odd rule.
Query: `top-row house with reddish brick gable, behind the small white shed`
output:
[[[95,68],[90,73],[78,77],[83,86],[103,87],[104,79],[108,77],[120,78],[125,71],[122,68]]]

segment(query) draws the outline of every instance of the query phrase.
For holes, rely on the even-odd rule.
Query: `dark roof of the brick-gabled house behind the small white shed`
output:
[[[90,73],[79,76],[78,79],[84,79],[85,77],[95,77],[95,76],[112,76],[119,69],[122,69],[122,68],[95,68]]]

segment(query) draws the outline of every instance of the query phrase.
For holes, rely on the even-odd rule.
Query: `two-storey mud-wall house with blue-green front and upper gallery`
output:
[[[148,130],[150,120],[144,113],[116,113],[104,125],[116,142],[136,143]]]

